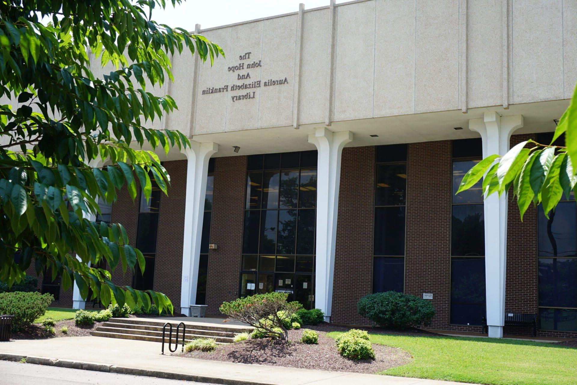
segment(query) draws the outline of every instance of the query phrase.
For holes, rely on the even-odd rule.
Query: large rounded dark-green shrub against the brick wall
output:
[[[430,301],[396,291],[364,296],[357,308],[359,315],[377,325],[396,329],[429,326],[435,314]]]

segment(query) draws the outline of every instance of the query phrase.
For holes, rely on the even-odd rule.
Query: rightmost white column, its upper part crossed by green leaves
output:
[[[509,140],[523,126],[522,115],[501,117],[485,113],[482,119],[471,119],[469,128],[481,134],[483,158],[505,155]],[[489,337],[502,338],[505,323],[505,268],[507,267],[507,193],[486,197],[485,211],[485,285]]]

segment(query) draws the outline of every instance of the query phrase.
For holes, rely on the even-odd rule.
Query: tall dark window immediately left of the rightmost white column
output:
[[[486,315],[482,181],[455,195],[464,174],[482,159],[481,139],[452,143],[450,322],[480,325]]]

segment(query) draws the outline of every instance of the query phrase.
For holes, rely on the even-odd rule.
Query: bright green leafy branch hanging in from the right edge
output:
[[[554,144],[563,134],[565,146]],[[561,197],[568,197],[575,188],[574,164],[577,165],[577,88],[571,104],[559,119],[551,143],[530,139],[515,145],[503,156],[488,156],[467,171],[457,193],[485,177],[482,184],[485,197],[494,193],[501,196],[512,186],[521,219],[531,203],[542,204],[549,218]]]

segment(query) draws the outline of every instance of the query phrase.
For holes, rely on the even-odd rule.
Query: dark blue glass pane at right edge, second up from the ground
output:
[[[577,258],[539,258],[539,305],[577,308]]]

